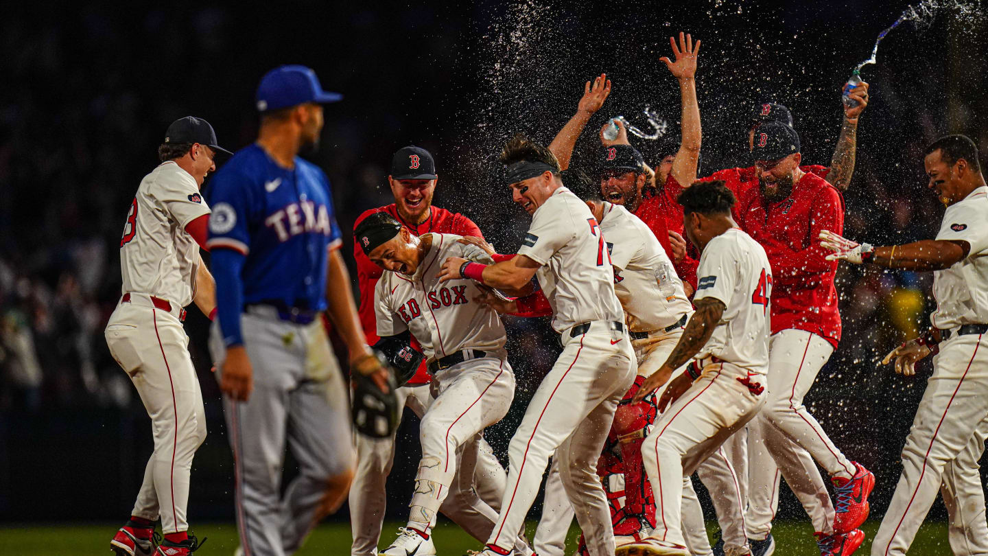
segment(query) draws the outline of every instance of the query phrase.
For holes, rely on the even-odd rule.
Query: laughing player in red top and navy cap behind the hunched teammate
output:
[[[369,217],[385,213],[402,223],[413,235],[430,232],[455,233],[482,239],[483,234],[470,219],[432,204],[438,180],[436,163],[428,150],[413,145],[398,149],[391,159],[391,173],[388,176],[395,202],[365,212],[358,217],[355,228],[360,227]],[[374,344],[379,340],[374,287],[382,270],[368,258],[359,237],[359,234],[354,234],[354,259],[357,261],[361,292],[361,325],[368,343]],[[395,392],[399,412],[402,407],[407,406],[416,416],[422,418],[433,401],[429,392],[431,380],[423,360],[415,375]],[[351,554],[374,556],[377,554],[377,541],[384,520],[387,502],[384,485],[394,460],[394,436],[371,438],[357,435],[355,439],[357,472],[350,489],[350,522],[354,538]],[[492,523],[483,509],[499,508],[506,476],[487,441],[482,436],[477,441],[479,446],[476,448],[478,459],[475,473],[469,477],[457,476],[451,485],[453,493],[446,497],[441,510],[474,537],[486,539]],[[462,469],[458,473],[461,475]],[[477,495],[482,502],[476,500]]]

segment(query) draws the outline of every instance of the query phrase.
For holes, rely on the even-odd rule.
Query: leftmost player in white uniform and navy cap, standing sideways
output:
[[[220,152],[229,153],[206,120],[173,122],[158,147],[161,164],[140,181],[124,225],[123,296],[104,333],[151,417],[154,452],[130,519],[110,541],[120,556],[149,555],[159,517],[164,538],[157,552],[183,556],[199,548],[187,532],[186,505],[206,414],[182,322],[192,302],[210,319],[215,309],[212,276],[199,253],[209,218],[200,188]]]

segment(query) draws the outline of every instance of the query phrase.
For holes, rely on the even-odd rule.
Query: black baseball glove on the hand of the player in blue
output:
[[[381,392],[373,382],[373,375],[380,367],[387,370],[387,393]],[[394,369],[383,355],[373,355],[353,365],[351,379],[354,382],[352,417],[357,431],[371,438],[387,438],[398,427],[398,400],[394,394]]]

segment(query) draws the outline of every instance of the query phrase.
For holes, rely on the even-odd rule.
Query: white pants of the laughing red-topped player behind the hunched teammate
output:
[[[395,391],[398,407],[407,407],[420,419],[432,405],[429,384],[404,386]],[[355,434],[357,471],[350,487],[350,526],[354,542],[351,556],[377,556],[381,524],[387,507],[384,486],[394,462],[394,435],[371,438]],[[484,541],[497,520],[504,485],[504,468],[490,445],[478,434],[461,447],[460,463],[450,485],[450,495],[440,511],[462,527],[470,536]],[[464,468],[473,473],[464,474]]]

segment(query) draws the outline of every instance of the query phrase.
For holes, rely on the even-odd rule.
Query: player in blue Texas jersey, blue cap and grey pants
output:
[[[307,67],[268,72],[257,90],[258,139],[210,188],[218,310],[210,347],[225,394],[245,556],[293,553],[350,487],[350,403],[320,312],[346,342],[353,375],[373,377],[389,395],[380,403],[395,403],[388,371],[360,331],[329,182],[297,156],[319,139],[321,104],[340,98]],[[380,433],[389,434],[384,424]],[[299,473],[283,496],[286,440]]]

